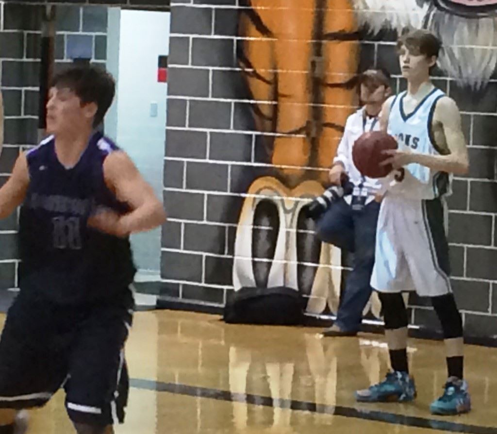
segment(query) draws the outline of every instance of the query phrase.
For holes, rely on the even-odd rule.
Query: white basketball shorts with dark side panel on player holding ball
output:
[[[379,292],[416,291],[437,297],[451,291],[443,199],[388,195],[376,230],[371,286]]]

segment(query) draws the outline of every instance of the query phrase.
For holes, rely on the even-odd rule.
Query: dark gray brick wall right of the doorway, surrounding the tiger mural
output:
[[[165,202],[165,284],[179,298],[223,305],[232,283],[233,244],[251,182],[273,174],[264,135],[248,110],[247,86],[236,62],[237,0],[172,1]],[[359,70],[383,66],[396,91],[405,89],[395,32],[362,34]],[[466,332],[497,335],[497,81],[480,90],[440,69],[434,82],[459,104],[470,145],[471,171],[454,180],[449,241],[454,292]],[[176,289],[176,287],[175,287]],[[170,291],[167,293],[170,295]],[[411,297],[412,323],[438,328],[426,300]]]

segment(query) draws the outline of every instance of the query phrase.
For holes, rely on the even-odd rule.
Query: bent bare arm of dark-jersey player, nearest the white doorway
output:
[[[104,161],[103,174],[107,186],[131,211],[124,215],[106,210],[97,212],[88,224],[103,232],[124,237],[156,228],[166,221],[166,212],[152,186],[143,179],[128,155],[111,153]]]

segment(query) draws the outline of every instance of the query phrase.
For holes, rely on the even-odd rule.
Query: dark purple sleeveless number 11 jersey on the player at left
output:
[[[92,303],[118,297],[133,281],[129,239],[87,226],[98,207],[128,211],[108,189],[105,158],[119,148],[94,133],[78,163],[64,167],[48,137],[27,154],[29,187],[19,216],[21,293],[55,303]]]

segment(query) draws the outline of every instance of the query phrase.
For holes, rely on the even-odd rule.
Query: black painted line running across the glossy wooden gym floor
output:
[[[162,381],[132,378],[130,380],[130,386],[136,389],[155,390],[158,392],[169,392],[178,395],[217,399],[220,401],[240,402],[264,407],[277,407],[282,409],[342,416],[345,418],[384,422],[387,424],[446,431],[449,433],[497,434],[497,428],[493,427],[458,424],[455,422],[440,421],[436,419],[425,419],[381,411],[368,411],[352,407],[317,404],[315,402],[272,399],[268,396],[232,393],[226,390],[188,386],[186,384],[165,383]]]

